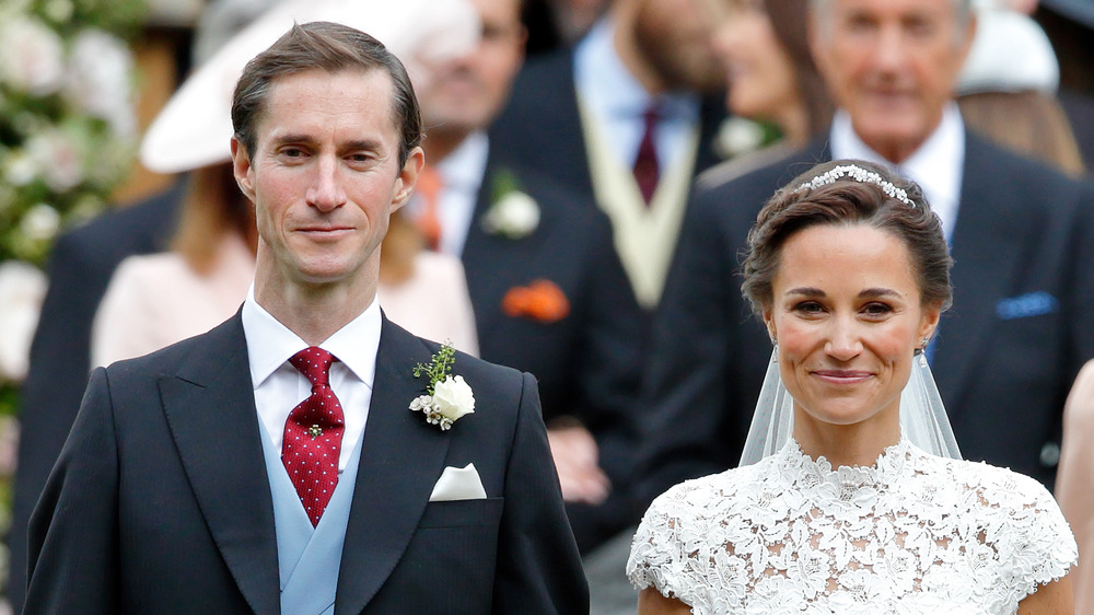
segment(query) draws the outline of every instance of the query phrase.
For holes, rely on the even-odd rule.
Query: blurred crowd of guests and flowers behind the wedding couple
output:
[[[241,49],[280,34],[263,38],[270,11],[328,3],[338,14],[338,1],[0,0],[0,523],[11,549],[0,570],[16,612],[26,520],[89,370],[207,330],[247,292],[254,218],[220,129]],[[455,56],[431,49],[443,36],[410,35],[420,15],[389,14],[382,33],[368,15],[349,23],[397,48],[427,130],[427,172],[383,245],[380,301],[412,333],[538,379],[594,613],[633,612],[622,566],[650,499],[735,463],[758,391],[737,364],[763,370],[770,352],[737,292],[732,213],[703,211],[744,199],[754,219],[779,178],[839,152],[887,161],[948,207],[956,316],[932,361],[958,442],[1050,488],[1062,456],[1058,496],[1071,495],[1061,503],[1081,547],[1094,539],[1083,526],[1094,459],[1082,456],[1094,372],[1063,411],[1094,358],[1094,324],[1081,313],[1094,299],[1083,294],[1094,267],[1082,260],[1094,254],[1094,228],[1083,228],[1094,220],[1094,2],[975,0],[954,74],[897,47],[818,54],[811,0],[467,3],[481,38]],[[930,98],[917,104],[941,117],[910,155],[871,140],[869,109],[840,81],[868,59],[877,66],[863,71]],[[919,150],[948,147],[926,139],[947,121],[963,140],[956,177],[940,186],[931,179],[946,164]],[[981,151],[991,152],[986,173],[969,166]],[[1024,188],[1000,196],[992,173],[1035,185],[1031,199],[1060,201],[1037,211],[1075,213],[1012,213],[997,200]],[[953,235],[958,204],[964,229],[1013,216],[994,252],[970,252],[977,231]],[[1010,278],[980,287],[988,274],[974,266]],[[1057,277],[1031,282],[1026,269]],[[991,323],[1012,328],[981,323],[977,298],[990,299]],[[1025,398],[979,375],[993,370],[992,350],[966,330],[1021,340],[1008,352],[1037,368],[1011,379]]]

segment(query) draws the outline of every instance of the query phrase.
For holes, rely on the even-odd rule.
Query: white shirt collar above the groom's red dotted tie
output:
[[[251,363],[251,382],[258,388],[293,355],[307,348],[307,344],[255,301],[254,283],[247,290],[247,299],[243,302],[242,317]],[[364,312],[319,346],[337,357],[361,382],[372,388],[376,374],[381,328],[380,302],[373,298]]]

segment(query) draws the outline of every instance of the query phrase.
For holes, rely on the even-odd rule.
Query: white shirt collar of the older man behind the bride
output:
[[[862,142],[851,126],[851,116],[839,109],[831,123],[831,155],[833,159],[873,162],[919,184],[931,209],[942,220],[946,241],[953,237],[965,170],[965,125],[956,103],[946,105],[934,132],[899,164],[885,160]]]

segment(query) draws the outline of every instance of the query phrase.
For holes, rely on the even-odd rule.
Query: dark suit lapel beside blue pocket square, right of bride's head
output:
[[[966,131],[961,209],[953,233],[953,308],[940,325],[933,371],[947,406],[961,406],[976,358],[997,321],[996,303],[1008,295],[1024,245],[1027,221],[1013,207],[1008,182],[992,174],[990,149]]]

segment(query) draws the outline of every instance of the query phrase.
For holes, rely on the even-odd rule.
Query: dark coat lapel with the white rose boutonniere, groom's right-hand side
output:
[[[338,576],[337,613],[360,613],[384,584],[443,469],[451,432],[408,409],[426,391],[426,379],[414,378],[414,367],[430,357],[420,339],[384,318]]]

